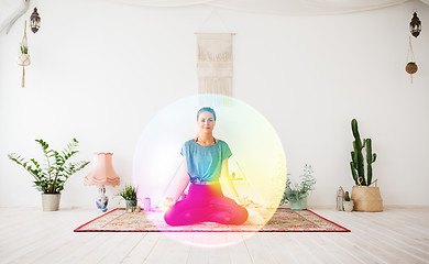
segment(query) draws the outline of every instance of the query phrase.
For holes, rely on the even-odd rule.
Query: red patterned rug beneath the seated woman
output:
[[[75,232],[350,232],[311,210],[278,208],[273,212],[262,209],[248,209],[250,217],[240,226],[212,222],[185,227],[170,227],[164,221],[164,212],[125,212],[113,209],[75,229]],[[273,215],[273,217],[271,217]],[[257,220],[260,218],[260,221]],[[271,218],[270,218],[271,217]],[[263,220],[265,219],[265,220]],[[270,220],[268,220],[270,219]],[[268,220],[266,222],[266,220]],[[265,223],[266,222],[266,223]],[[264,224],[265,223],[265,224]]]

